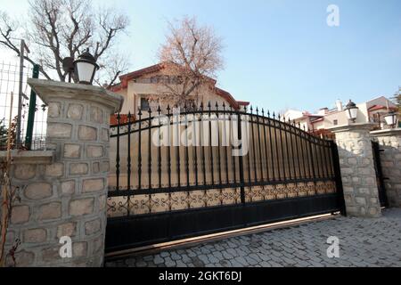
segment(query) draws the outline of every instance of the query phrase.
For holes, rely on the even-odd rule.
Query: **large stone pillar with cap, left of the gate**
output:
[[[102,266],[110,114],[123,99],[92,85],[29,85],[49,107],[46,145],[54,159],[12,167],[12,183],[20,185],[10,231],[10,240],[21,241],[17,266]],[[63,236],[72,239],[71,258],[59,254]]]

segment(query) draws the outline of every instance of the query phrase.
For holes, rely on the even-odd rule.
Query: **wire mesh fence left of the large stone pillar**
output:
[[[37,97],[34,110],[33,132],[31,143],[27,145],[27,129],[29,121],[29,101],[31,88],[27,79],[33,77],[34,67],[29,62],[24,62],[20,69],[19,62],[0,62],[0,149],[6,148],[6,132],[12,126],[12,148],[28,148],[38,150],[45,148],[47,106]],[[21,88],[20,88],[21,83]],[[19,108],[19,96],[21,105]],[[19,118],[20,110],[20,118]],[[10,112],[12,124],[10,125]],[[20,125],[20,127],[18,127]],[[18,138],[18,129],[20,137]]]

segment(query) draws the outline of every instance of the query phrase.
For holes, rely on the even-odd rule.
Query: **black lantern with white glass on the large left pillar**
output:
[[[85,53],[78,56],[78,60],[74,61],[74,75],[80,84],[92,85],[94,82],[94,73],[99,69],[94,56],[89,53],[89,49]]]

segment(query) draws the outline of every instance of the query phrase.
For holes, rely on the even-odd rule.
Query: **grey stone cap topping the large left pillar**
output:
[[[94,85],[73,84],[35,78],[29,78],[28,84],[46,104],[52,99],[82,100],[102,104],[108,107],[111,113],[116,113],[121,110],[124,102],[123,96]]]

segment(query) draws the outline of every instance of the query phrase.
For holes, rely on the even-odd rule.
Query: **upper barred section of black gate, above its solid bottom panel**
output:
[[[118,116],[118,124],[111,126],[110,155],[116,160],[110,166],[115,173],[109,180],[110,216],[264,200],[276,192],[315,194],[319,187],[336,191],[334,142],[307,134],[280,116],[215,106],[179,115],[168,110],[168,126],[160,116],[160,110],[140,110],[136,121],[122,123]],[[191,134],[183,139],[185,133]],[[170,143],[163,145],[160,135]],[[235,147],[227,144],[233,136],[247,151],[241,156],[233,156]],[[191,145],[183,145],[184,140]],[[218,199],[208,200],[209,194]]]

